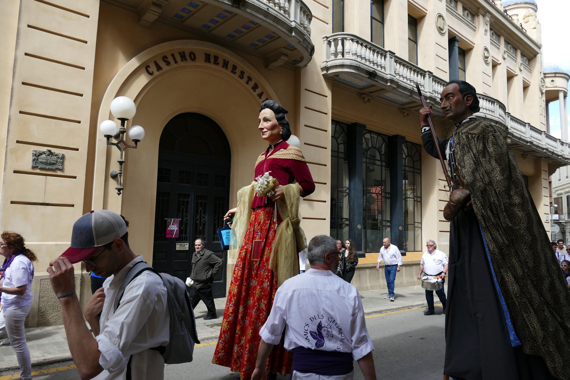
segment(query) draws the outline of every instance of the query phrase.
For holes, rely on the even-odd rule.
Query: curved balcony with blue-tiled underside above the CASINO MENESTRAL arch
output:
[[[206,41],[263,58],[266,67],[303,67],[315,52],[312,13],[302,0],[108,0]]]

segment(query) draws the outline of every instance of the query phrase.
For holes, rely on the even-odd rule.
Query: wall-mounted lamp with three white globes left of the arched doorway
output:
[[[123,164],[125,160],[123,159],[123,152],[128,148],[137,148],[140,140],[144,138],[144,128],[141,126],[131,126],[129,128],[128,136],[133,140],[135,145],[129,145],[125,141],[125,132],[127,132],[127,128],[125,124],[127,124],[129,119],[132,119],[137,112],[137,107],[135,106],[135,102],[131,99],[127,98],[127,96],[119,96],[118,98],[113,99],[111,102],[111,114],[115,116],[115,118],[121,121],[121,126],[119,127],[119,131],[117,131],[117,123],[113,122],[113,120],[105,120],[99,126],[99,131],[105,136],[107,139],[107,145],[115,145],[119,152],[121,152],[120,158],[117,160],[119,163],[119,172],[111,171],[109,176],[112,179],[119,177],[119,184],[115,187],[117,191],[117,195],[121,195],[121,191],[123,191]],[[118,140],[116,143],[112,143],[109,139],[115,138]]]

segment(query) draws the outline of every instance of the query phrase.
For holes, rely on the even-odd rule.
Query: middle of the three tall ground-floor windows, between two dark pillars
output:
[[[388,136],[367,131],[363,135],[363,245],[378,252],[390,237],[390,166]]]

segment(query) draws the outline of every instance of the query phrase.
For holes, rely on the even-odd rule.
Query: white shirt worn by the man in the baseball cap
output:
[[[101,312],[101,332],[95,337],[101,351],[99,364],[103,372],[95,379],[125,379],[131,355],[133,379],[164,379],[164,359],[158,351],[150,350],[164,346],[170,340],[170,313],[161,278],[149,270],[139,274],[125,289],[117,312],[113,312],[121,282],[139,261],[143,261],[143,256],[137,256],[103,284],[105,303]]]

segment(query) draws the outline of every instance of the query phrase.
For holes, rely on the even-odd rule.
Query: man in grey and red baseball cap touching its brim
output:
[[[80,261],[87,272],[108,277],[84,313],[75,294],[72,265]],[[125,275],[140,261],[143,256],[129,248],[123,218],[100,210],[88,212],[75,222],[70,248],[47,268],[62,306],[67,343],[82,379],[164,379],[164,359],[152,350],[169,341],[170,316],[161,278],[149,270],[141,273],[124,289],[116,311],[113,307],[123,291],[120,285]],[[101,312],[99,320],[97,314]]]

